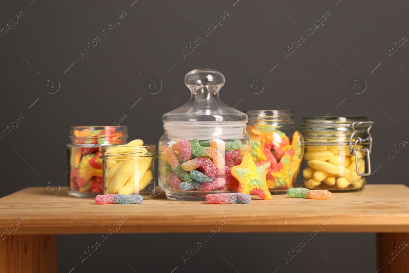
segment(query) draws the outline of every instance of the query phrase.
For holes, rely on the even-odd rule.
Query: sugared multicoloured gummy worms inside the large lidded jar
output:
[[[163,145],[161,173],[166,174],[166,187],[180,191],[237,191],[238,180],[231,167],[240,165],[250,151],[241,140],[200,142],[182,138],[172,145]]]

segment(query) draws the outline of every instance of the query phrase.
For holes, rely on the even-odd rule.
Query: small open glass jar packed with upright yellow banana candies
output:
[[[156,145],[104,146],[101,149],[103,194],[155,196]]]

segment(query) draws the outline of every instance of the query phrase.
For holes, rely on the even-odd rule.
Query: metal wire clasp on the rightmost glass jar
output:
[[[368,136],[366,138],[364,138],[364,139],[362,139],[360,137],[357,137],[355,139],[355,142],[354,142],[353,147],[352,147],[352,138],[354,137],[354,135],[356,133],[355,126],[359,126],[361,124],[369,125],[369,127],[367,129]],[[373,125],[372,121],[354,122],[352,124],[353,132],[352,132],[351,137],[349,138],[349,152],[351,154],[354,154],[354,156],[355,156],[355,166],[356,166],[357,174],[359,176],[369,176],[371,174],[371,158],[370,158],[369,154],[372,151],[372,136],[371,136],[371,133],[369,132],[369,130],[371,130],[372,125]],[[359,168],[358,168],[357,145],[360,145],[360,144],[369,144],[369,148],[362,148],[362,153],[364,153],[364,156],[366,156],[366,162],[367,162],[367,165],[368,165],[368,172],[363,173],[363,174],[360,174],[360,171],[359,171]]]

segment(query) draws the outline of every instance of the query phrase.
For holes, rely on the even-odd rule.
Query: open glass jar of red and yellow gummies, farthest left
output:
[[[127,126],[71,126],[67,144],[68,194],[92,197],[102,193],[101,147],[124,144]]]

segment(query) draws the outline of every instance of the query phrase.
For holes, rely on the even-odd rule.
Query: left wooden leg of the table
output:
[[[0,273],[9,272],[56,273],[57,235],[1,237]]]

